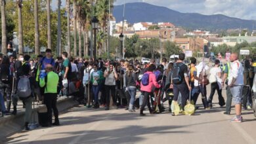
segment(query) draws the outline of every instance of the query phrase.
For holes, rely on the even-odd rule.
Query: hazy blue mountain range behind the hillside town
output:
[[[116,22],[123,20],[123,5],[114,6],[113,10]],[[188,29],[226,30],[247,28],[253,29],[255,20],[242,20],[223,14],[203,15],[198,13],[182,13],[167,7],[159,7],[148,3],[125,4],[125,20],[134,24],[137,22],[171,22],[175,26]],[[255,25],[256,26],[256,25]]]

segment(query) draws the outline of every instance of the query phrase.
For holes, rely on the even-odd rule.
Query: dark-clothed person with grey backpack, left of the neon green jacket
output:
[[[31,120],[32,115],[32,101],[34,99],[33,90],[35,86],[35,81],[33,77],[30,77],[30,64],[29,64],[30,56],[25,55],[24,61],[22,62],[22,66],[20,70],[19,77],[17,78],[17,88],[16,88],[16,95],[25,105],[25,130],[30,130],[28,128],[28,124]]]

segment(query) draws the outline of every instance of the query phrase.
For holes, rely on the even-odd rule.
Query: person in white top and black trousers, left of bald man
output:
[[[222,90],[221,90],[221,87],[219,86],[219,82],[218,82],[219,79],[221,79],[221,68],[219,67],[219,65],[220,65],[220,61],[215,60],[215,65],[210,70],[210,81],[212,81],[212,82],[211,82],[211,94],[207,101],[209,107],[213,107],[212,101],[213,101],[213,96],[214,96],[214,93],[216,90],[217,90],[218,96],[219,96],[219,105],[221,105],[221,107],[223,107],[223,105],[225,105],[223,95],[221,94]],[[211,79],[213,79],[213,80],[211,80]]]

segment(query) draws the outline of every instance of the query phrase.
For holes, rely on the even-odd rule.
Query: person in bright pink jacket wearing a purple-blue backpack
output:
[[[143,113],[144,107],[148,105],[148,110],[150,114],[152,114],[152,108],[150,106],[149,96],[150,93],[152,93],[152,90],[154,87],[160,88],[160,84],[156,81],[156,75],[153,73],[153,71],[156,69],[156,65],[151,64],[148,66],[148,70],[144,75],[142,76],[141,82],[140,82],[140,91],[142,92],[143,103],[140,108],[140,116],[145,116]]]

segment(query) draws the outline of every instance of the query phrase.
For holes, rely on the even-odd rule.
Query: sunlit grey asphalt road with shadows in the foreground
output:
[[[145,111],[146,117],[139,117],[138,110],[74,107],[60,115],[61,126],[20,132],[7,137],[6,143],[256,143],[253,112],[243,111],[241,123],[230,122],[234,107],[231,115],[223,115],[216,93],[213,109],[200,107],[192,116]],[[225,90],[223,96],[226,99]]]

